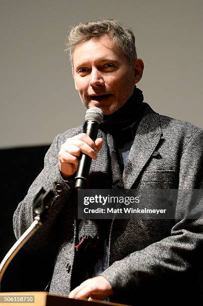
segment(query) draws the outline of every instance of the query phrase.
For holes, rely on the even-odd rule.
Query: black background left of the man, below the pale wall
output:
[[[16,241],[12,227],[13,212],[43,168],[48,147],[42,145],[0,150],[0,261]],[[43,248],[37,251],[22,248],[3,275],[1,291],[44,290],[52,274],[52,263],[53,256],[49,251]]]

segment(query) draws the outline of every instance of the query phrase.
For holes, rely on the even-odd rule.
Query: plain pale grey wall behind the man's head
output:
[[[135,31],[145,100],[203,127],[202,12],[202,0],[0,0],[0,147],[50,143],[82,123],[64,37],[101,17]]]

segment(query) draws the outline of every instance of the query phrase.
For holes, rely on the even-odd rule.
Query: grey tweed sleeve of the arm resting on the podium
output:
[[[180,160],[179,189],[203,188],[203,130],[198,129],[190,137]],[[186,215],[190,199],[177,200],[177,209]],[[203,201],[197,203],[202,207]],[[199,208],[200,211],[200,208]],[[136,236],[136,232],[135,232]],[[147,288],[149,281],[163,282],[168,277],[184,277],[188,272],[202,266],[203,216],[199,219],[176,220],[171,235],[115,261],[100,275],[112,285],[116,294],[135,294]]]

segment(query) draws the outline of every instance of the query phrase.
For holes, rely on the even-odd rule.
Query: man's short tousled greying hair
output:
[[[86,22],[85,24],[80,22],[73,26],[66,37],[65,43],[66,50],[69,50],[71,63],[73,63],[74,50],[79,43],[105,34],[111,38],[113,45],[127,56],[129,63],[133,64],[134,60],[137,59],[135,35],[131,28],[121,25],[115,19]]]

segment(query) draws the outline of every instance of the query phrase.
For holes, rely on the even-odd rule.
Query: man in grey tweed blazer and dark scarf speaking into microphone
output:
[[[144,64],[128,27],[116,20],[80,23],[68,47],[75,88],[87,108],[102,109],[104,122],[95,142],[82,126],[56,136],[15,211],[16,237],[32,222],[39,189],[54,188],[49,218],[27,243],[37,248],[57,241],[51,292],[129,304],[176,296],[198,304],[203,220],[78,220],[74,175],[83,152],[92,158],[89,188],[202,188],[203,130],[143,102],[135,84]],[[183,215],[184,205],[178,198]]]

